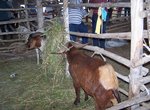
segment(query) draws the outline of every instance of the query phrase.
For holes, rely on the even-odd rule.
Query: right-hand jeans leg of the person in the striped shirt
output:
[[[81,22],[81,24],[78,26],[78,29],[79,29],[79,32],[81,33],[88,33],[88,27],[83,22]],[[83,36],[82,43],[83,44],[88,43],[88,38]]]

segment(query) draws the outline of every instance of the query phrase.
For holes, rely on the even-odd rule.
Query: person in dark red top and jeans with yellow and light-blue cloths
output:
[[[89,0],[89,3],[106,3],[107,0]],[[101,8],[101,7],[99,7]],[[98,31],[101,31],[100,33],[106,33],[106,21],[107,21],[107,9],[106,8],[101,8],[102,11],[100,13],[104,14],[105,15],[105,20],[103,21],[100,21],[101,23],[98,22],[98,19],[101,17],[98,15],[98,9],[99,8],[90,8],[90,10],[93,11],[93,15],[92,15],[92,33],[97,33],[96,32],[96,28],[98,26],[98,24],[101,24],[98,26],[98,28],[100,30]],[[101,27],[101,28],[100,28]],[[97,33],[99,34],[99,32]],[[101,48],[105,48],[105,39],[97,39],[97,38],[93,38],[93,45],[94,46],[98,46],[98,47],[101,47]]]

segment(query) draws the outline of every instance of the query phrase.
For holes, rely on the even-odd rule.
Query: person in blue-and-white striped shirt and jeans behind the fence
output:
[[[80,4],[82,0],[70,0],[70,4]],[[82,21],[82,18],[87,15],[87,12],[82,7],[69,8],[69,30],[72,32],[88,33],[88,27]],[[76,41],[77,36],[70,35],[70,40]],[[88,38],[82,36],[82,43],[88,43]]]

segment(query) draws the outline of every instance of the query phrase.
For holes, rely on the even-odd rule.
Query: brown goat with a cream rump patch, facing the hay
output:
[[[88,95],[93,97],[96,110],[105,110],[120,102],[118,79],[113,67],[98,58],[84,54],[72,42],[69,42],[67,47],[69,50],[64,53],[76,92],[74,104],[80,103],[81,88],[85,92],[85,100],[88,99]]]

